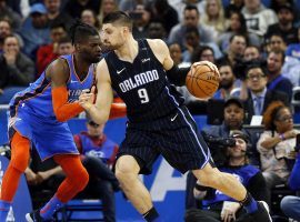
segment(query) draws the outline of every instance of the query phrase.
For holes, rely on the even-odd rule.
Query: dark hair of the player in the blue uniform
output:
[[[70,38],[72,44],[87,41],[87,37],[99,36],[96,28],[77,20],[70,28]]]

